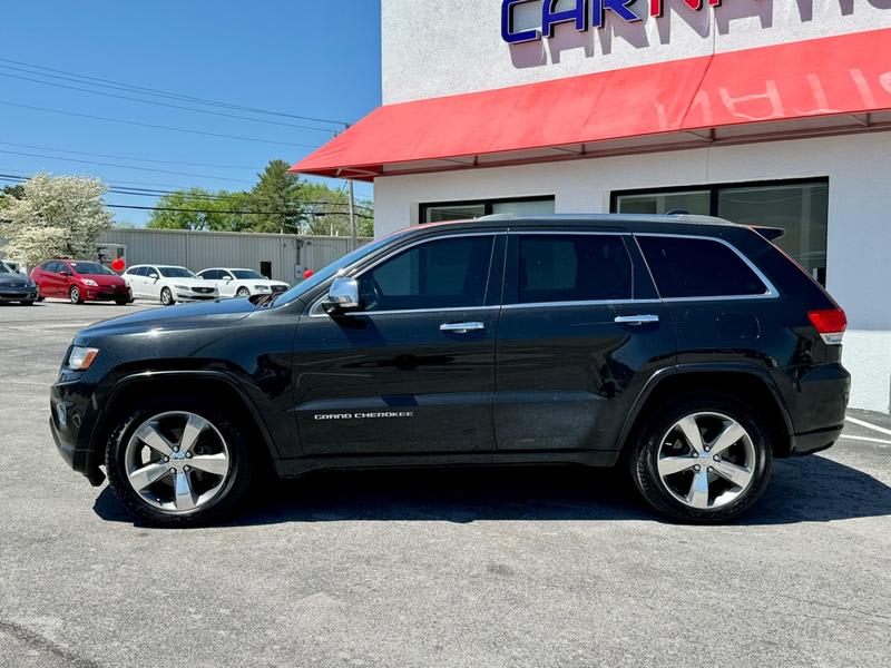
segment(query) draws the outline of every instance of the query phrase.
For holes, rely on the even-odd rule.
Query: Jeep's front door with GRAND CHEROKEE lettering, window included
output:
[[[495,450],[503,243],[499,234],[418,242],[356,276],[361,311],[307,308],[294,352],[305,455]]]

